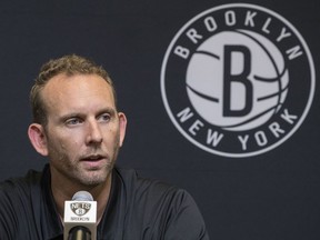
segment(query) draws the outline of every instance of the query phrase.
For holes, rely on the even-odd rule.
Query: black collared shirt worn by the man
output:
[[[50,187],[50,170],[0,183],[0,239],[63,239]],[[134,170],[114,169],[110,198],[97,239],[209,239],[192,197]]]

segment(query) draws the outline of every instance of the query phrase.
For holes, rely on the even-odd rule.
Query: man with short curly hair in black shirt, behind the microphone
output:
[[[97,239],[209,239],[184,190],[114,168],[127,118],[108,73],[79,56],[42,66],[31,89],[36,151],[42,172],[0,184],[0,239],[62,239],[63,206],[84,190],[98,203]]]

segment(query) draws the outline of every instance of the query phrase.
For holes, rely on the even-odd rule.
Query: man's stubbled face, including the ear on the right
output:
[[[43,130],[51,174],[97,186],[112,170],[126,133],[111,87],[96,74],[52,78],[42,91],[48,110]]]

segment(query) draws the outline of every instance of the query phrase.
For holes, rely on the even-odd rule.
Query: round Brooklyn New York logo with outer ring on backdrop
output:
[[[253,4],[224,4],[186,23],[161,69],[177,129],[224,157],[270,151],[303,122],[314,92],[312,57],[296,28]]]

